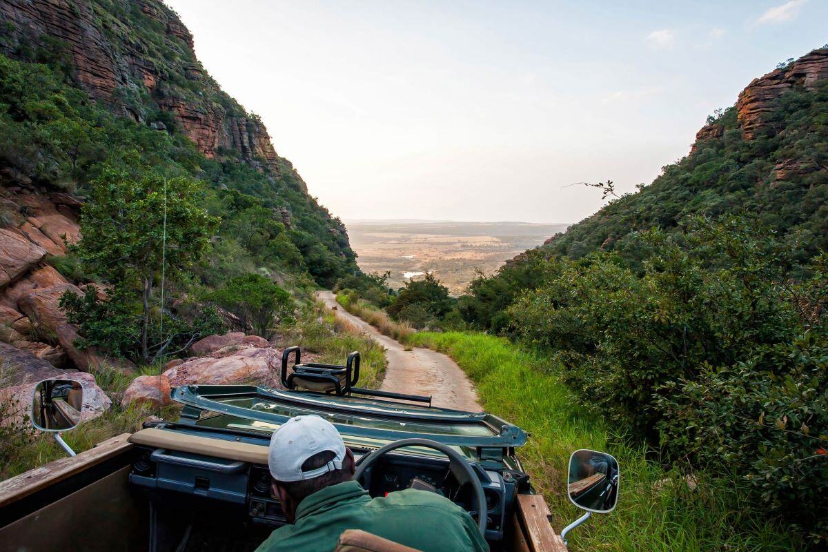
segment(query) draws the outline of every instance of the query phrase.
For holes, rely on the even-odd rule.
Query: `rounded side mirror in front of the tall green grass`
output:
[[[569,467],[570,501],[587,511],[612,511],[619,499],[619,463],[611,454],[580,449]]]

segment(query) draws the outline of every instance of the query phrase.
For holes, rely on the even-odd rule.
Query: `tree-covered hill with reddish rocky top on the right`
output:
[[[637,257],[635,233],[692,215],[747,214],[801,260],[828,249],[828,48],[754,79],[708,118],[688,156],[635,194],[614,200],[545,243],[549,252]]]

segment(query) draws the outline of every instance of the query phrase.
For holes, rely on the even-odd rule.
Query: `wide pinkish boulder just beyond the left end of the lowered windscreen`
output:
[[[274,348],[238,347],[219,350],[227,352],[221,358],[204,357],[182,362],[164,372],[171,386],[232,383],[265,383],[277,380],[277,370],[282,358]],[[217,353],[219,353],[217,352]],[[217,355],[218,356],[218,355]]]

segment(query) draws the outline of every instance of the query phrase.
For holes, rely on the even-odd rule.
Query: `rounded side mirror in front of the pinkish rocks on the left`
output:
[[[43,380],[31,397],[31,424],[41,431],[71,430],[80,423],[84,389],[74,380]]]

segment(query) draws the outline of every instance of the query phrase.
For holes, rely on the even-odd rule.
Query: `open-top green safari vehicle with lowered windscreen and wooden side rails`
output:
[[[281,380],[287,391],[176,387],[179,420],[146,423],[0,482],[0,550],[254,550],[286,523],[270,491],[272,431],[310,413],[337,427],[372,496],[407,487],[439,492],[469,511],[492,550],[566,550],[568,530],[617,500],[614,458],[576,451],[570,498],[588,511],[558,535],[517,458],[528,438],[519,427],[492,414],[433,406],[426,396],[360,388],[359,353],[336,366],[302,363],[299,348],[289,348]],[[33,408],[41,409],[42,390],[68,387],[42,382]],[[591,479],[579,486],[585,478]],[[585,494],[591,498],[582,506]],[[341,541],[341,550],[411,550],[365,534]]]

